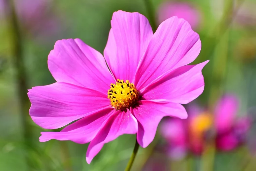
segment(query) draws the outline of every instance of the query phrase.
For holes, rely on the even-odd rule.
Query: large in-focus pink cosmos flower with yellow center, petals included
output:
[[[57,82],[29,90],[29,113],[45,129],[78,121],[61,132],[42,132],[40,142],[90,142],[88,163],[122,134],[137,134],[147,147],[164,116],[187,118],[181,104],[203,92],[208,61],[187,65],[200,49],[199,35],[185,20],[172,17],[153,34],[145,16],[124,11],[113,14],[104,57],[80,39],[57,41],[48,56]]]

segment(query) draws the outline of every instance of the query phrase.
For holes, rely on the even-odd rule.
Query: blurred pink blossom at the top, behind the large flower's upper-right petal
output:
[[[192,4],[185,2],[164,2],[158,9],[158,22],[162,23],[166,19],[178,16],[191,25],[193,29],[198,28],[200,24],[200,13],[192,6]]]

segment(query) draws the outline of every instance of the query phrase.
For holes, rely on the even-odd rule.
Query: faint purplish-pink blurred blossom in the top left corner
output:
[[[5,0],[0,0],[4,15]],[[60,33],[60,20],[51,8],[52,0],[13,0],[22,29],[34,37],[45,39]]]

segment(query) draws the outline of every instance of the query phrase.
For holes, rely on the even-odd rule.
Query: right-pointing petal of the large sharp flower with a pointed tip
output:
[[[164,99],[181,104],[191,102],[203,92],[202,69],[208,62],[186,65],[166,72],[141,90],[143,98]]]

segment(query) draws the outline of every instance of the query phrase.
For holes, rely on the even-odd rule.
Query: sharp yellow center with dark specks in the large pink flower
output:
[[[107,92],[107,98],[117,110],[129,108],[134,105],[139,98],[139,92],[135,89],[133,83],[128,80],[117,79],[116,84],[111,83]]]

